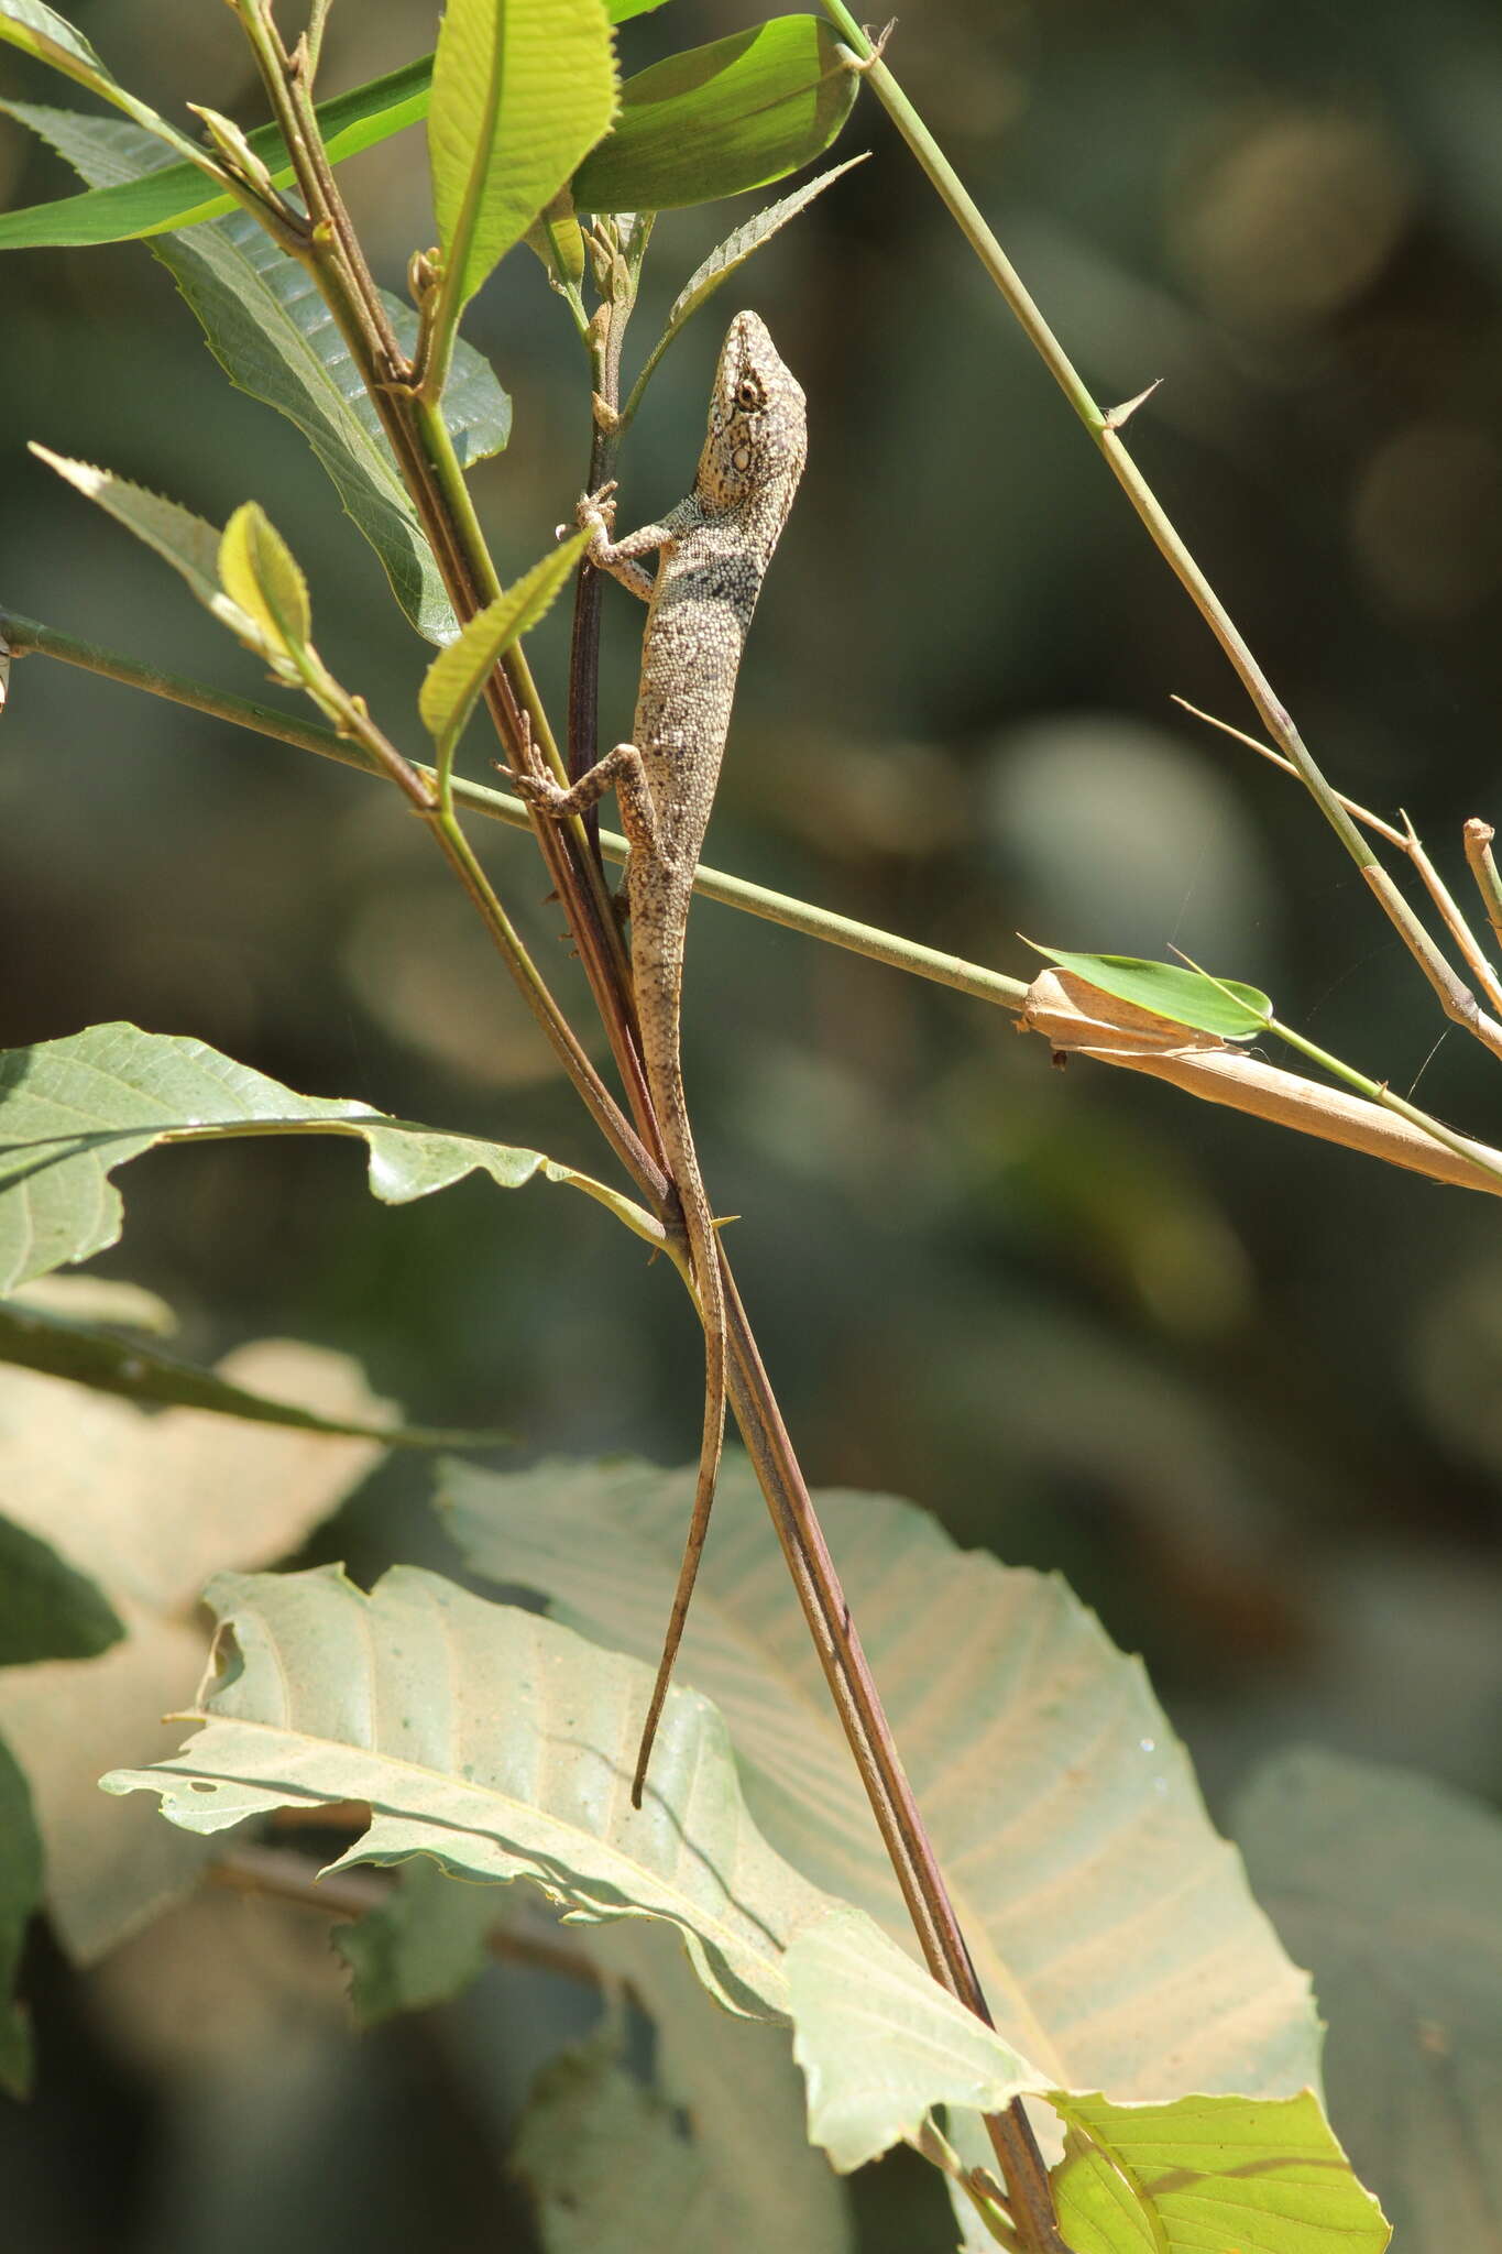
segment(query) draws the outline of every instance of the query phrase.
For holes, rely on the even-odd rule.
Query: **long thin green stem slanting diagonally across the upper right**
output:
[[[1340,796],[1324,780],[1308,746],[1304,744],[1304,737],[1295,728],[1293,717],[1275,696],[1272,683],[1268,681],[1261,665],[1252,656],[1252,649],[1248,647],[1245,638],[1234,624],[1230,611],[1212,588],[1200,566],[1189,554],[1189,548],[1184,545],[1178,530],[1169,521],[1169,514],[1164,512],[1162,503],[1157,500],[1151,485],[1128,455],[1115,417],[1101,412],[1101,408],[1092,399],[1083,376],[1079,374],[1067,352],[1049,329],[1047,320],[1043,318],[1038,304],[1025,289],[1011,259],[1007,257],[1000,241],[986,225],[980,205],[966,192],[964,183],[959,180],[959,174],[944,156],[944,149],[932,137],[932,133],[914,110],[912,101],[887,70],[874,43],[867,38],[856,18],[849,14],[844,0],[822,0],[822,7],[829,20],[840,29],[842,38],[851,50],[851,56],[856,59],[856,65],[862,70],[867,86],[892,117],[896,131],[912,149],[923,174],[935,187],[939,201],[944,203],[955,225],[968,241],[971,250],[975,252],[975,257],[980,259],[980,264],[984,266],[984,270],[991,275],[998,291],[1007,300],[1011,313],[1022,327],[1022,334],[1034,345],[1045,367],[1058,383],[1061,392],[1065,394],[1065,399],[1083,421],[1085,431],[1103,453],[1110,473],[1115,476],[1117,485],[1121,487],[1133,509],[1142,518],[1157,552],[1166,561],[1169,570],[1178,577],[1180,586],[1184,588],[1196,611],[1200,613],[1200,618],[1214,633],[1216,642],[1225,651],[1241,685],[1257,706],[1263,726],[1268,728],[1272,739],[1284,748],[1288,762],[1293,764],[1299,780],[1308,789],[1311,798],[1324,814],[1326,823],[1331,825],[1331,829],[1335,832],[1349,857],[1360,868],[1383,913],[1387,915],[1398,938],[1407,947],[1410,956],[1416,960],[1419,969],[1434,990],[1446,1017],[1452,1019],[1452,1023],[1464,1026],[1466,1032],[1484,1041],[1495,1055],[1502,1055],[1502,1026],[1495,1026],[1479,1010],[1475,994],[1470,994],[1464,980],[1446,962],[1443,953],[1439,951],[1439,947],[1434,944],[1421,920],[1414,915],[1410,904],[1403,899],[1403,893],[1398,890],[1394,879],[1376,859],[1371,845],[1362,838],[1360,829],[1347,814],[1344,805],[1340,802]]]

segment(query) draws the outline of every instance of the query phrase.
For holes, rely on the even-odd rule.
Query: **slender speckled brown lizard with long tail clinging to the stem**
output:
[[[694,877],[721,755],[730,733],[741,649],[804,471],[804,392],[781,363],[766,322],[736,313],[709,392],[709,431],[694,491],[660,523],[610,536],[610,487],[579,503],[592,534],[590,561],[646,602],[633,742],[617,744],[563,789],[547,775],[516,787],[563,820],[615,791],[631,854],[624,899],[631,915],[631,983],[642,1066],[667,1170],[678,1190],[705,1325],[705,1429],[694,1515],[673,1591],[658,1679],[646,1709],[631,1801],[642,1805],[646,1765],[682,1641],[694,1578],[709,1530],[725,1438],[725,1285],[714,1213],[698,1170],[682,1093],[680,996]],[[649,573],[640,557],[658,552]]]

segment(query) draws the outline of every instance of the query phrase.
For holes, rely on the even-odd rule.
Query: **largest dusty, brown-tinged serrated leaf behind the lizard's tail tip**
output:
[[[495,1580],[545,1589],[572,1625],[655,1661],[694,1474],[446,1465],[441,1517]],[[1317,2076],[1308,1979],[1212,1828],[1142,1663],[1054,1578],[957,1551],[912,1503],[824,1492],[820,1519],[860,1621],[998,2031],[1049,2080],[1162,2096],[1284,2096]],[[680,1675],[725,1715],[748,1805],[788,1862],[910,1929],[777,1535],[739,1456]]]

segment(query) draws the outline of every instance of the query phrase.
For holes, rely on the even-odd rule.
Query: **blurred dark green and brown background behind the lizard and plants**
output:
[[[79,0],[74,18],[167,115],[198,99],[261,119],[223,7]],[[676,0],[624,27],[624,65],[748,20]],[[432,29],[428,9],[347,0],[322,88]],[[1331,780],[1405,807],[1464,893],[1459,825],[1502,814],[1495,14],[950,0],[905,14],[889,61],[1094,394],[1164,379],[1130,428],[1146,476]],[[72,99],[9,54],[0,90]],[[723,316],[763,311],[808,392],[811,467],[709,859],[1016,976],[1034,962],[1018,931],[1178,944],[1497,1141],[1482,1050],[1446,1030],[1313,807],[1169,703],[1252,726],[869,99],[835,156],[858,149],[871,162],[673,349],[624,464],[622,523],[680,496]],[[11,203],[74,185],[5,122],[0,178]],[[421,137],[345,180],[401,289],[432,234]],[[759,201],[658,223],[628,370]],[[585,367],[527,252],[468,336],[516,401],[509,453],[473,480],[511,575],[583,480]],[[275,694],[23,449],[38,437],[216,521],[257,498],[309,573],[327,660],[421,755],[426,645],[297,433],[230,392],[146,248],[11,255],[0,385],[9,604]],[[606,591],[606,618],[613,739],[640,613]],[[534,647],[554,708],[565,636],[561,611]],[[468,773],[486,762],[475,728]],[[489,827],[480,843],[579,1001],[531,845]],[[128,1017],[299,1091],[604,1170],[378,787],[32,658],[5,724],[0,863],[5,1046]],[[813,1483],[914,1497],[959,1542],[1058,1567],[1144,1652],[1212,1810],[1295,1740],[1502,1796],[1493,1204],[1124,1073],[1054,1073],[980,1003],[716,906],[694,920],[685,1071]],[[538,1452],[694,1452],[682,1292],[581,1199],[468,1183],[387,1213],[351,1152],[315,1143],[160,1154],[128,1188],[133,1226],[101,1267],[162,1292],[200,1359],[297,1334],[358,1355],[423,1422],[504,1425]],[[421,1467],[392,1467],[320,1555],[360,1576],[446,1562],[421,1494]],[[167,1934],[88,1979],[38,1963],[43,2089],[0,2121],[25,2254],[529,2243],[520,2204],[502,2213],[504,2107],[473,2029],[356,2044],[322,1932],[293,1911],[207,1905]],[[558,2008],[518,1979],[495,1975],[493,1997],[513,2092]],[[885,2173],[867,2245],[946,2245],[917,2168]]]

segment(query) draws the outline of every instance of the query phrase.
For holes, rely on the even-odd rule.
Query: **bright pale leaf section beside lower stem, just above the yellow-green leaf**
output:
[[[831,1909],[793,1936],[788,1995],[808,2137],[842,2175],[914,2141],[935,2105],[1002,2112],[1047,2087],[860,1909]]]

